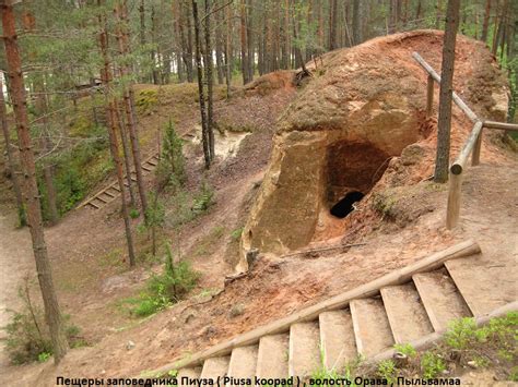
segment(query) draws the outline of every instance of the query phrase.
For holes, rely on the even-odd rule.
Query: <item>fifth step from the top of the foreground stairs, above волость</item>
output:
[[[319,315],[320,349],[328,371],[344,371],[345,363],[356,358],[353,319],[349,310]]]

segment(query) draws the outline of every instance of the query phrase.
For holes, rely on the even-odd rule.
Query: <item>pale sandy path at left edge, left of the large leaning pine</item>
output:
[[[4,327],[12,313],[21,302],[17,298],[17,289],[23,278],[28,274],[33,276],[36,271],[31,250],[31,235],[28,229],[15,229],[15,219],[2,208],[0,215],[0,327]],[[0,366],[8,365],[3,341],[5,331],[0,330]]]

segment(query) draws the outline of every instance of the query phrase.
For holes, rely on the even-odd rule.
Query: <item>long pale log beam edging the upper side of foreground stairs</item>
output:
[[[473,240],[467,240],[464,242],[455,244],[446,250],[443,250],[423,259],[420,259],[413,263],[412,265],[395,270],[372,282],[365,283],[361,287],[332,297],[328,300],[306,307],[284,318],[278,319],[275,322],[250,330],[246,334],[236,336],[231,340],[221,342],[216,346],[195,353],[189,358],[178,359],[169,364],[160,367],[158,370],[156,370],[156,372],[166,373],[170,370],[179,370],[183,367],[193,366],[201,364],[204,359],[228,354],[236,347],[243,347],[258,342],[262,336],[285,332],[290,329],[292,324],[316,319],[321,312],[334,311],[338,309],[345,307],[349,305],[350,301],[354,299],[367,298],[377,294],[379,292],[379,289],[390,285],[404,283],[409,281],[414,274],[436,269],[440,267],[447,259],[474,255],[480,253],[480,251],[481,250],[479,244]]]

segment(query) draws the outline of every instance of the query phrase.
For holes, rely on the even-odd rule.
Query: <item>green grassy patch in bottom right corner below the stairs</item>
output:
[[[348,365],[343,373],[337,374],[318,370],[313,374],[315,380],[325,378],[351,380],[355,375],[366,378],[382,378],[388,384],[397,383],[398,377],[448,378],[456,376],[456,370],[483,370],[491,367],[498,379],[518,379],[517,339],[518,312],[504,317],[492,318],[488,324],[478,327],[473,318],[460,318],[450,323],[444,339],[431,350],[417,352],[410,344],[397,344],[399,352],[395,359],[377,364],[362,363]]]

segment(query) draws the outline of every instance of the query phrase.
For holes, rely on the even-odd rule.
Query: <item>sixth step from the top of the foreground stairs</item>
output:
[[[290,327],[289,376],[308,376],[321,367],[318,323]]]

